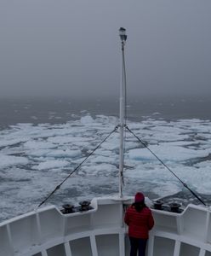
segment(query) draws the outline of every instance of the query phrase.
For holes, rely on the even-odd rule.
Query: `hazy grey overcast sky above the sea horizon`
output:
[[[6,96],[211,95],[210,0],[1,0]]]

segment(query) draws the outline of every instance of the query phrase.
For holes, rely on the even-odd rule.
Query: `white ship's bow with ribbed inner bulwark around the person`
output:
[[[0,225],[0,256],[129,255],[125,207],[132,198],[97,198],[93,209],[63,214],[44,207]],[[149,204],[149,200],[146,200]],[[181,213],[152,209],[147,256],[210,256],[211,218],[207,207],[189,205]]]

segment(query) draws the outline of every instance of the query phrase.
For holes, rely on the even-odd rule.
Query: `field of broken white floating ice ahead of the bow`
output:
[[[37,205],[118,124],[115,117],[82,115],[66,124],[17,124],[0,131],[0,218],[10,217],[11,207],[20,213]],[[154,115],[127,125],[192,189],[211,195],[209,120],[168,122]],[[117,192],[118,140],[114,132],[62,185],[54,203],[60,204],[61,195],[77,200]],[[124,193],[141,189],[158,197],[181,191],[180,182],[128,131],[124,150]]]

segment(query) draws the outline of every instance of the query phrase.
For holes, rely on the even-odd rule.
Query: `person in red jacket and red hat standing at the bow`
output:
[[[149,238],[149,230],[154,226],[151,209],[145,205],[145,195],[138,192],[134,197],[134,203],[128,207],[124,222],[128,225],[130,241],[130,256],[145,256],[145,247]]]

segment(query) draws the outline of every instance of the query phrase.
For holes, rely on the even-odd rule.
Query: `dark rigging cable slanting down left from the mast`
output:
[[[76,172],[76,171],[79,169],[79,167],[81,167],[81,166],[83,165],[83,163],[84,163],[86,160],[88,160],[88,158],[89,158],[92,154],[94,154],[94,151],[96,151],[98,148],[100,148],[101,144],[104,143],[104,142],[106,141],[106,139],[111,136],[112,133],[114,133],[115,131],[117,131],[117,129],[118,129],[118,125],[115,126],[114,130],[111,131],[110,134],[109,134],[103,141],[101,141],[101,143],[98,144],[97,147],[95,147],[95,148],[93,149],[93,151],[90,152],[90,153],[88,154],[88,156],[87,156],[72,172],[70,172],[70,174],[69,174],[59,185],[57,185],[57,186],[55,187],[55,189],[38,205],[38,207],[41,207],[41,206],[48,200],[48,198],[51,197],[51,195],[54,195],[55,191],[58,190],[58,189],[60,189],[60,186],[61,186],[63,183],[65,183],[66,180],[67,180],[69,177],[71,177],[71,175],[72,175],[74,172]],[[37,207],[37,208],[38,208],[38,207]]]

